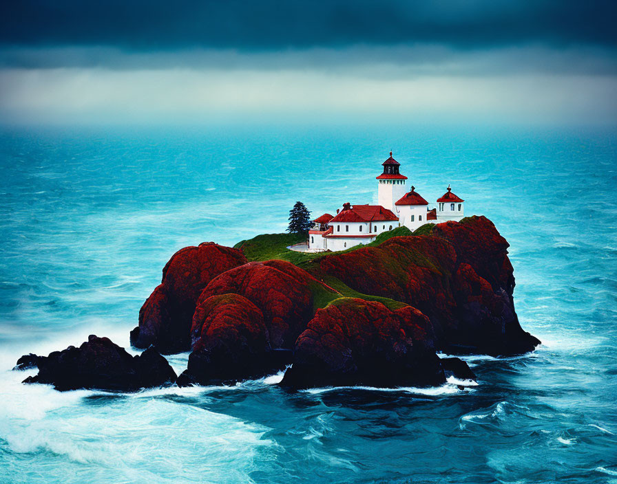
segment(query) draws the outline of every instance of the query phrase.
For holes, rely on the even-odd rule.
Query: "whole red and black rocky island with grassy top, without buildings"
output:
[[[292,239],[176,252],[131,331],[140,356],[91,336],[16,368],[37,366],[25,382],[59,390],[220,384],[286,367],[291,389],[432,386],[473,378],[437,353],[515,355],[540,343],[519,324],[509,245],[485,217],[401,227],[344,252],[291,252]],[[185,351],[176,378],[160,354]]]

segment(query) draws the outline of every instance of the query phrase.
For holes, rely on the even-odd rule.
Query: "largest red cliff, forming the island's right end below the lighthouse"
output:
[[[431,320],[437,349],[448,353],[532,351],[540,341],[516,317],[508,243],[492,222],[469,217],[427,231],[324,256],[311,272],[416,307]]]

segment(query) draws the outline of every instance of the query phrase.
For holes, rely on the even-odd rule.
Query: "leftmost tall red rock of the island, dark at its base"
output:
[[[163,268],[162,283],[139,311],[139,325],[131,331],[131,344],[161,353],[179,353],[191,347],[191,320],[199,295],[212,278],[247,262],[240,250],[216,243],[186,247]]]

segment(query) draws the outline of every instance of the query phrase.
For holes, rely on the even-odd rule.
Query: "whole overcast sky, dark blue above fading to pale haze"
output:
[[[0,6],[0,121],[617,124],[615,1]]]

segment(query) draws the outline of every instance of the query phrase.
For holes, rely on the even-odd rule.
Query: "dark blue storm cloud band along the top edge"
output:
[[[615,1],[4,1],[4,46],[153,51],[439,43],[615,47]]]

